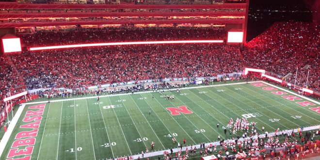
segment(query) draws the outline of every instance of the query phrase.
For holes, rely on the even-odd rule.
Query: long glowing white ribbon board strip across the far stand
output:
[[[34,47],[34,48],[29,48],[29,50],[47,50],[47,49],[61,49],[61,48],[78,48],[78,47],[95,47],[95,46],[118,46],[118,45],[178,44],[178,43],[223,43],[223,42],[224,42],[224,40],[114,42],[114,43],[94,43],[94,44]]]

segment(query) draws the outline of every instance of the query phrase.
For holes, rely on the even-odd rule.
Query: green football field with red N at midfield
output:
[[[249,122],[255,122],[259,133],[263,133],[262,127],[274,132],[277,128],[292,130],[320,124],[319,110],[316,110],[319,102],[299,96],[291,101],[290,97],[282,97],[293,95],[289,91],[275,86],[266,90],[263,88],[270,85],[261,84],[265,86],[222,83],[181,89],[180,93],[141,92],[101,96],[99,101],[96,97],[83,97],[27,104],[0,159],[31,156],[32,160],[108,160],[141,154],[146,147],[151,151],[151,142],[155,143],[155,151],[176,148],[173,137],[180,143],[186,139],[186,145],[216,142],[218,135],[222,139],[241,137],[241,131],[230,136],[229,128],[224,134],[223,128],[231,117],[234,120],[246,117]],[[278,91],[286,94],[272,93]],[[164,95],[174,95],[175,99],[165,99]],[[45,106],[44,110],[30,108],[39,104]],[[27,114],[30,111],[33,113]],[[24,122],[28,115],[40,114],[41,120]],[[32,128],[30,123],[36,125]],[[33,144],[15,143],[19,132],[34,129],[37,134],[32,136]],[[18,152],[18,149],[12,150],[14,144],[18,149],[32,147],[32,152],[12,153]]]

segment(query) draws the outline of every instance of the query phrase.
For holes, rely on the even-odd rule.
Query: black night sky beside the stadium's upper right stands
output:
[[[250,0],[247,41],[277,21],[319,24],[320,0]]]

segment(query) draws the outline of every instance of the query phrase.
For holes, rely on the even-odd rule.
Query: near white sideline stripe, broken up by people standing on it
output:
[[[304,131],[314,130],[314,129],[319,129],[319,128],[320,128],[320,125],[311,126],[311,127],[305,127],[305,128],[304,128]],[[291,129],[287,129],[287,130],[291,130]],[[293,130],[294,130],[294,132],[298,132],[298,128],[293,129]],[[259,135],[260,138],[262,138],[262,137],[264,137],[264,136],[265,136],[265,134],[260,134],[260,135]],[[275,136],[275,135],[274,135],[274,132],[269,133],[268,136]],[[241,139],[242,139],[242,138],[240,138],[240,140],[241,140]],[[255,139],[255,138],[253,138],[253,139]],[[217,141],[217,142],[212,142],[212,143],[206,143],[205,145],[207,146],[207,145],[209,145],[209,144],[217,145],[217,146],[218,146],[218,145],[220,145],[220,142]],[[200,148],[200,144],[193,145],[193,146],[195,146],[197,149]],[[190,147],[190,146],[189,146],[189,147]],[[174,149],[172,149],[172,150],[173,150],[173,153],[176,153],[176,152],[179,150],[179,148],[174,148]],[[181,150],[181,151],[185,151],[185,150],[186,150],[186,147],[182,147],[182,150]],[[170,149],[162,150],[162,151],[156,151],[156,152],[144,153],[144,158],[163,155],[163,152],[164,152],[164,151],[169,151],[169,152],[170,152]],[[138,157],[142,158],[142,157],[141,157],[141,154],[139,154],[139,155],[132,155],[132,156],[131,156],[131,158],[132,158],[133,160],[138,159]],[[116,160],[117,160],[117,159],[116,159]]]

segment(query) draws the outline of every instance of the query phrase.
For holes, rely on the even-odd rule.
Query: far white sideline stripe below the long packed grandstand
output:
[[[249,81],[248,83],[256,83],[260,81]],[[184,89],[193,89],[193,88],[207,88],[207,87],[217,87],[217,86],[226,86],[226,85],[236,85],[236,84],[245,84],[247,82],[238,82],[238,83],[228,83],[228,84],[215,84],[215,85],[205,85],[205,86],[195,86],[195,87],[185,87],[181,88],[181,90]],[[142,92],[135,92],[133,94],[144,94],[144,93],[152,93],[152,91],[142,91]],[[132,95],[131,93],[125,93],[125,94],[114,94],[114,95],[103,95],[99,96],[101,97],[108,97],[108,96],[123,96],[123,95]],[[60,101],[70,101],[70,100],[79,100],[79,99],[91,99],[91,98],[97,98],[98,96],[88,96],[88,97],[80,97],[80,98],[70,98],[70,99],[58,99],[58,100],[50,100],[50,102],[60,102]],[[48,103],[48,100],[40,101],[40,102],[30,102],[30,103],[23,103],[23,104],[38,104],[38,103]]]

